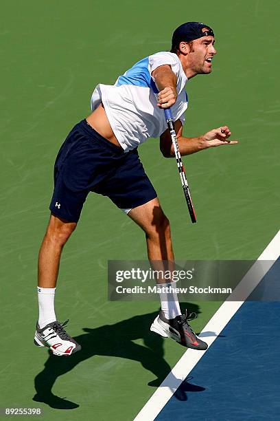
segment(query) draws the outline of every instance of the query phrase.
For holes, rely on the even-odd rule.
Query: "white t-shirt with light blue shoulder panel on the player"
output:
[[[171,108],[173,118],[180,118],[184,123],[187,76],[174,53],[159,52],[143,58],[119,76],[114,86],[100,84],[93,91],[91,109],[97,108],[102,101],[113,132],[125,152],[135,149],[148,138],[158,138],[167,129],[164,111],[156,105],[152,89],[154,78],[151,76],[156,67],[165,64],[170,65],[177,76],[178,97]]]

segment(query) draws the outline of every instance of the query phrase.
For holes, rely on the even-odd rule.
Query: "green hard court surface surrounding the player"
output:
[[[110,200],[90,195],[65,246],[58,319],[82,352],[49,358],[33,345],[36,257],[49,217],[56,153],[90,112],[97,83],[170,49],[172,30],[204,21],[218,55],[210,76],[187,84],[185,133],[229,125],[233,147],[184,158],[198,224],[191,225],[174,160],[159,141],[140,148],[172,224],[177,259],[255,259],[279,230],[277,83],[279,2],[1,2],[1,403],[40,407],[44,420],[132,420],[183,355],[150,334],[159,303],[108,302],[108,259],[145,259],[143,233]],[[187,304],[186,304],[187,305]],[[191,303],[199,332],[220,303]],[[45,365],[45,369],[44,369]],[[43,371],[44,370],[44,371]],[[43,371],[43,372],[42,372]],[[35,389],[47,403],[32,400]],[[75,409],[51,395],[75,402]],[[52,406],[52,407],[51,407]]]

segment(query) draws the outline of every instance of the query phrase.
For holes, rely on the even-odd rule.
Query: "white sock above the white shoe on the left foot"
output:
[[[37,287],[37,290],[39,303],[38,325],[42,329],[48,323],[56,321],[56,313],[54,312],[54,294],[56,288]]]

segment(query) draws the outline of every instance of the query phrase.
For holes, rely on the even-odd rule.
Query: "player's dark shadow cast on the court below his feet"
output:
[[[187,308],[190,312],[199,313],[197,305],[188,304]],[[59,376],[66,374],[82,361],[95,355],[139,361],[143,368],[156,376],[148,385],[159,387],[167,374],[170,373],[171,368],[163,358],[164,339],[150,332],[150,325],[157,314],[159,313],[142,314],[115,323],[115,325],[104,325],[95,329],[85,327],[83,329],[84,334],[75,336],[75,340],[82,346],[80,352],[70,357],[53,356],[49,352],[45,368],[34,379],[36,395],[33,400],[45,402],[45,404],[56,409],[78,408],[78,403],[54,395],[51,389]],[[143,338],[145,346],[132,342],[139,338]],[[174,395],[178,400],[187,400],[187,392],[205,390],[203,387],[189,384],[187,380],[180,385]],[[63,391],[61,393],[63,396]]]

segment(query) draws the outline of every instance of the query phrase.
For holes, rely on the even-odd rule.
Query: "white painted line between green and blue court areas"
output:
[[[250,293],[253,292],[266,272],[268,272],[273,263],[278,259],[279,255],[280,230],[257,259],[258,261],[266,261],[262,268],[263,270],[260,270],[260,263],[254,263],[235,290],[233,290],[231,296],[222,303],[220,308],[215,312],[202,330],[200,336],[203,338],[203,341],[207,342],[208,347],[212,345],[215,338],[222,332],[237,310],[242,306],[244,301],[246,301]],[[234,299],[241,301],[233,301]],[[207,336],[207,338],[205,338],[203,333],[209,331],[213,332],[213,336]],[[161,386],[156,389],[154,394],[138,413],[134,421],[154,421],[156,416],[161,412],[161,409],[163,409],[168,400],[172,398],[181,382],[185,380],[189,372],[195,367],[205,352],[206,351],[196,351],[196,349],[187,349],[172,371],[170,371],[170,374],[163,380]]]

